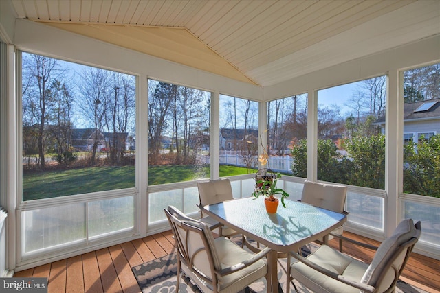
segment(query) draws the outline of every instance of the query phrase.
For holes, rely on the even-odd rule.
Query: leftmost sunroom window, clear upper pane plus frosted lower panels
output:
[[[19,52],[23,256],[135,226],[135,77]]]

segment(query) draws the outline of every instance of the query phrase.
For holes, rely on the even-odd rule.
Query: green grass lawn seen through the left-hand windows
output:
[[[220,176],[248,174],[248,169],[220,166]],[[209,178],[208,166],[190,165],[150,167],[149,185]],[[23,200],[54,198],[89,192],[135,187],[135,167],[87,167],[81,169],[23,172]]]

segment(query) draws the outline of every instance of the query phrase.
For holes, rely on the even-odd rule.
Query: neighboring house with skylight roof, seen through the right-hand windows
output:
[[[376,121],[385,133],[385,117]],[[430,139],[440,133],[440,99],[428,99],[404,105],[404,142]]]

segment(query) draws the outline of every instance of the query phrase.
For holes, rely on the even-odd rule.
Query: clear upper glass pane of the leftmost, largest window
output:
[[[23,201],[135,187],[135,77],[22,54]]]

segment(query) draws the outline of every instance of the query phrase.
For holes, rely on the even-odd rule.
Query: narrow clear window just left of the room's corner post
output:
[[[220,95],[220,176],[258,167],[259,103]]]

